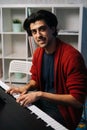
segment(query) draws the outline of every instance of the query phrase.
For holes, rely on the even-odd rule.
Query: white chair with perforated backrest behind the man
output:
[[[12,83],[12,79],[14,79],[14,82],[20,82],[23,83],[23,78],[20,77],[16,80],[12,74],[25,74],[25,82],[28,82],[29,76],[31,76],[30,68],[32,66],[31,61],[23,61],[23,60],[12,60],[9,64],[9,81],[10,84]],[[12,78],[13,77],[13,78]]]

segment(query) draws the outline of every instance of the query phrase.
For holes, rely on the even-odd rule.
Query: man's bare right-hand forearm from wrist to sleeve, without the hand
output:
[[[52,94],[40,92],[38,95],[40,95],[40,98],[51,100],[60,105],[71,105],[76,108],[82,107],[82,104],[70,94]]]

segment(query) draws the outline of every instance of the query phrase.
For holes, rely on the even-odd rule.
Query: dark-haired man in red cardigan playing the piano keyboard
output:
[[[23,87],[10,88],[21,93],[17,102],[38,106],[70,130],[77,127],[86,96],[87,75],[81,54],[57,38],[57,18],[40,10],[24,21],[24,29],[33,36],[38,48],[31,67],[31,80]],[[28,91],[31,88],[37,91]]]

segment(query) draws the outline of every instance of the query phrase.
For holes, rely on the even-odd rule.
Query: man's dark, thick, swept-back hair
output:
[[[30,24],[34,23],[37,20],[44,20],[46,24],[51,28],[55,27],[54,36],[57,35],[57,24],[58,20],[56,16],[47,10],[39,10],[35,13],[32,13],[28,18],[25,19],[23,23],[23,28],[27,31],[29,36],[32,36],[31,30],[30,30]]]

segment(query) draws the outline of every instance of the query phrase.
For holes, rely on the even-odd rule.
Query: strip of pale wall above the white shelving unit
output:
[[[60,4],[60,3],[82,3],[87,7],[87,0],[0,0],[0,4]]]

